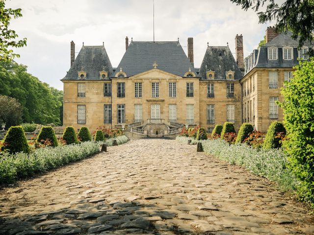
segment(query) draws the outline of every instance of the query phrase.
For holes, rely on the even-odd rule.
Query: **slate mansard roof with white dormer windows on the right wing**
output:
[[[253,52],[244,59],[244,73],[248,73],[254,68],[292,68],[298,64],[298,49],[299,40],[294,40],[291,38],[292,33],[280,33],[277,37],[266,43],[259,49],[254,49]],[[305,42],[303,47],[309,47],[312,49],[310,42]],[[278,48],[278,59],[268,60],[267,59],[267,48],[277,47]],[[293,59],[283,60],[283,47],[293,47]]]

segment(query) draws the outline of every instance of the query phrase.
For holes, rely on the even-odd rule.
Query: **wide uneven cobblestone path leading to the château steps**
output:
[[[0,234],[314,234],[273,184],[174,140],[136,140],[0,191]]]

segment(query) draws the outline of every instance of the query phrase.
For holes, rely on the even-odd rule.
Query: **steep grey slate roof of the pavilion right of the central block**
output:
[[[230,70],[235,72],[235,80],[240,80],[243,76],[228,46],[207,47],[199,76],[206,79],[209,70],[215,72],[215,80],[226,80],[226,72]]]

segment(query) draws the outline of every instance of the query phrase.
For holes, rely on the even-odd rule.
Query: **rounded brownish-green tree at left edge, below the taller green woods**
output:
[[[21,104],[7,95],[0,95],[0,122],[4,122],[6,127],[18,125],[22,121]]]

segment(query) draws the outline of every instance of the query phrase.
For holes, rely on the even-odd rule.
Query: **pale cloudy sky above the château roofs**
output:
[[[153,0],[6,0],[6,7],[21,8],[22,18],[10,28],[27,46],[15,49],[16,62],[50,86],[63,90],[60,81],[70,69],[70,42],[76,55],[82,47],[105,44],[113,67],[129,41],[153,41]],[[235,56],[235,35],[243,35],[244,57],[258,47],[267,26],[256,12],[244,11],[230,0],[155,0],[155,41],[177,41],[185,53],[187,38],[194,38],[194,66],[199,68],[207,43],[226,46]]]

